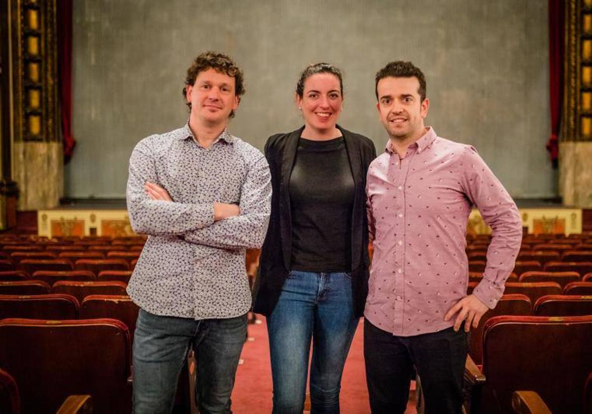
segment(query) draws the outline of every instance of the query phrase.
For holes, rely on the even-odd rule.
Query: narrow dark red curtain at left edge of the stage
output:
[[[72,135],[72,0],[59,0],[57,7],[57,65],[64,161],[72,157],[76,141]]]

